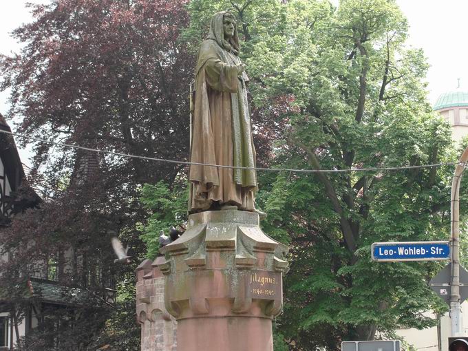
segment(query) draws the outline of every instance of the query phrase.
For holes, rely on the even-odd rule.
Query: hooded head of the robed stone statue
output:
[[[239,54],[236,21],[231,12],[221,11],[213,15],[208,39],[215,40],[227,51]]]

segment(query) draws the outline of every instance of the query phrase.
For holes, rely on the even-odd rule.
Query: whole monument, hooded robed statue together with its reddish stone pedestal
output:
[[[177,320],[179,351],[273,351],[288,248],[259,226],[265,214],[254,203],[247,81],[235,19],[218,12],[195,69],[191,162],[198,164],[189,173],[191,214],[184,234],[151,265],[166,277],[164,306]]]

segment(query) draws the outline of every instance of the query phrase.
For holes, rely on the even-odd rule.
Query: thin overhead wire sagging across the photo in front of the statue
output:
[[[399,171],[403,169],[423,169],[423,168],[433,168],[433,167],[442,167],[442,166],[453,166],[455,164],[460,164],[460,162],[441,162],[435,164],[418,164],[417,166],[398,166],[398,167],[370,167],[370,168],[351,168],[351,169],[290,169],[290,168],[263,168],[263,167],[239,167],[239,166],[228,166],[224,164],[210,164],[202,162],[188,162],[181,160],[169,160],[166,158],[154,158],[149,156],[140,156],[132,155],[131,153],[121,153],[116,151],[107,151],[101,149],[93,149],[91,147],[83,147],[80,145],[67,144],[65,142],[54,142],[51,140],[45,140],[41,138],[36,138],[34,136],[26,136],[24,134],[13,133],[12,131],[6,131],[0,129],[0,133],[9,134],[11,136],[17,136],[19,138],[25,138],[34,140],[37,142],[43,142],[45,144],[56,145],[59,147],[70,147],[73,149],[80,149],[96,153],[107,153],[109,155],[121,156],[125,158],[138,158],[140,160],[149,160],[157,162],[167,162],[174,164],[185,164],[185,165],[198,165],[206,167],[217,167],[217,168],[228,168],[228,169],[246,169],[246,170],[255,170],[255,171],[288,171],[292,173],[349,173],[349,172],[364,172],[364,171]]]

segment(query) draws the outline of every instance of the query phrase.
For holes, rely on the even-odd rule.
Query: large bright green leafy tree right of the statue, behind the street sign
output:
[[[184,32],[193,47],[217,10],[231,10],[244,37],[257,144],[271,146],[262,162],[354,170],[454,160],[395,1],[193,0]],[[445,308],[426,284],[438,264],[377,264],[370,244],[447,239],[452,170],[259,175],[264,228],[291,247],[278,329],[292,350],[434,325],[421,312]]]

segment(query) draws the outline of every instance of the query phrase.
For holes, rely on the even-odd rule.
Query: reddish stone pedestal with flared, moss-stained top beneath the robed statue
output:
[[[178,351],[273,351],[288,248],[262,232],[257,213],[190,215],[184,235],[161,251]]]

